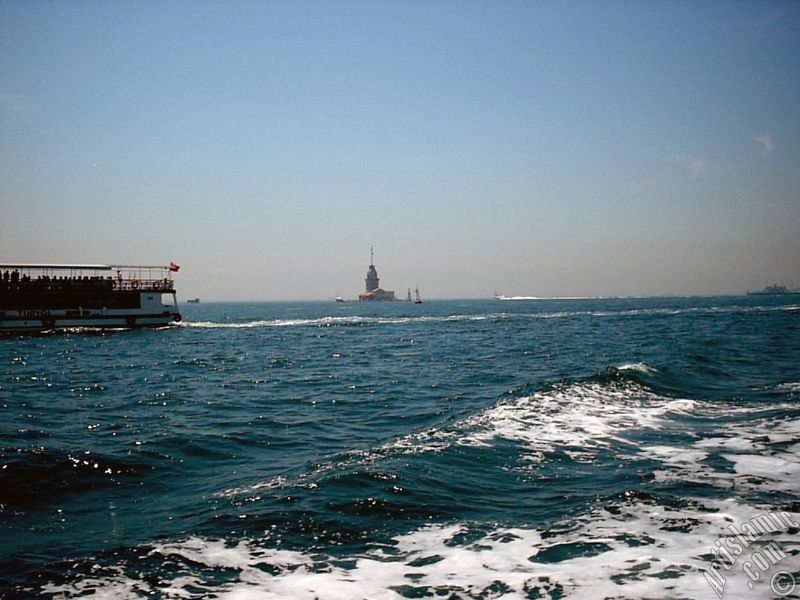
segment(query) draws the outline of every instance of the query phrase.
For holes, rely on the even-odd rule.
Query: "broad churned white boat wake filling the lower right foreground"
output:
[[[493,520],[433,520],[352,550],[285,544],[286,532],[274,526],[263,535],[230,541],[195,535],[133,549],[130,560],[94,565],[42,591],[59,597],[308,600],[716,598],[709,583],[715,542],[729,535],[731,524],[771,510],[776,493],[800,493],[800,413],[786,401],[725,405],[672,398],[641,381],[658,373],[644,363],[626,363],[585,380],[499,401],[369,451],[343,453],[299,477],[280,476],[226,490],[220,497],[240,506],[249,496],[256,510],[257,501],[265,501],[262,495],[297,498],[305,490],[333,499],[338,492],[331,488],[346,484],[344,489],[356,495],[354,505],[362,507],[356,510],[363,510],[364,502],[378,503],[374,497],[360,499],[370,493],[364,487],[368,472],[381,479],[388,476],[379,473],[397,469],[412,456],[434,458],[458,448],[494,452],[509,443],[519,461],[534,469],[557,471],[561,456],[597,469],[611,456],[652,473],[656,483],[666,486],[663,490],[673,489],[673,483],[681,489],[693,485],[694,497],[675,502],[668,491],[658,493],[651,485],[654,491],[647,493],[634,484],[608,496],[598,493],[584,509],[556,522],[508,527]],[[796,384],[775,389],[794,394],[787,385]],[[643,443],[647,432],[658,432],[660,441]],[[489,479],[493,469],[514,471],[508,464],[480,462],[470,468]],[[403,485],[411,485],[410,473],[404,479]],[[344,504],[330,502],[328,509],[344,510]],[[782,552],[780,564],[753,578],[743,568],[743,555],[723,573],[726,597],[767,596],[779,569],[800,569],[800,507],[786,505],[781,515],[788,524],[761,535],[746,555],[775,544]]]

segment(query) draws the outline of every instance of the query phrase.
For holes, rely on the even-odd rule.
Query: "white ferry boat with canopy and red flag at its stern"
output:
[[[0,332],[163,327],[181,320],[180,267],[0,264]]]

